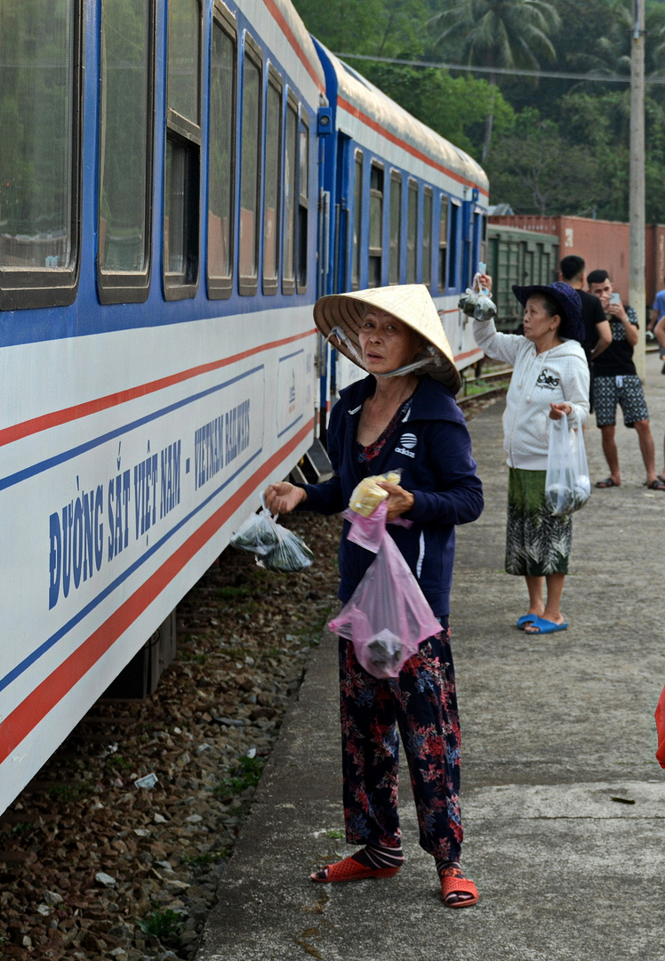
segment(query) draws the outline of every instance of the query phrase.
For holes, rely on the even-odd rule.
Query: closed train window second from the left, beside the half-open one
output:
[[[104,0],[97,283],[103,304],[148,298],[153,196],[154,2]]]

